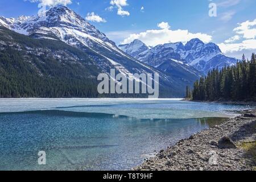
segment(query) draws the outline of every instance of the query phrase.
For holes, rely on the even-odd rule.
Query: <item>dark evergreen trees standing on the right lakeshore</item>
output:
[[[256,61],[255,54],[250,60],[245,55],[232,67],[220,71],[213,69],[208,76],[201,77],[193,85],[187,86],[187,98],[195,101],[256,101]]]

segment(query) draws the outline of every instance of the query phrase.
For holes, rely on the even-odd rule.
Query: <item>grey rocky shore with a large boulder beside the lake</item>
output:
[[[255,170],[256,110],[227,119],[221,125],[180,140],[135,171]],[[249,144],[249,147],[243,147]]]

